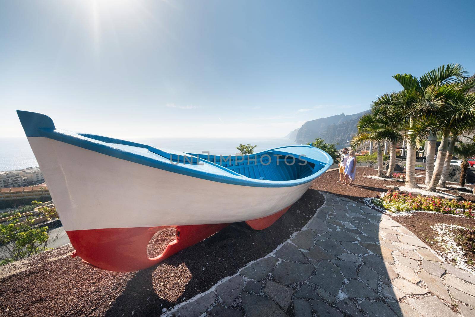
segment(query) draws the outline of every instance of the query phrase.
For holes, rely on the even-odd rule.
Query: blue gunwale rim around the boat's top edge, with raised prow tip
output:
[[[146,149],[152,148],[146,144],[130,142],[130,141],[111,138],[111,137],[102,136],[102,135],[76,133],[76,132],[70,132],[66,130],[58,130],[56,129],[51,118],[49,118],[47,115],[38,114],[34,112],[20,111],[20,110],[17,110],[17,113],[27,137],[29,136],[46,137],[46,138],[53,139],[53,140],[63,142],[66,144],[75,145],[75,146],[84,148],[86,150],[91,150],[100,154],[105,154],[108,156],[119,158],[125,161],[139,163],[142,165],[158,168],[158,169],[165,170],[168,172],[179,173],[182,175],[187,175],[187,176],[205,179],[205,180],[218,182],[218,183],[228,183],[228,184],[234,184],[234,185],[254,186],[254,187],[292,187],[292,186],[297,186],[297,185],[301,185],[301,184],[309,183],[313,181],[315,178],[317,178],[322,173],[324,173],[333,163],[333,159],[329,154],[327,154],[326,152],[324,152],[323,150],[319,148],[309,146],[309,145],[281,146],[275,149],[265,150],[265,151],[258,152],[255,154],[242,155],[243,158],[246,158],[246,157],[249,158],[252,156],[269,154],[269,152],[276,151],[278,149],[304,147],[304,148],[313,149],[313,151],[315,151],[315,155],[312,157],[304,156],[303,158],[308,162],[322,165],[321,169],[319,169],[315,173],[312,173],[311,175],[304,178],[295,179],[295,180],[286,180],[286,181],[271,181],[271,180],[260,180],[260,179],[248,178],[245,175],[231,171],[228,168],[221,166],[217,163],[210,162],[208,160],[200,158],[200,156],[204,154],[190,154],[190,155],[196,155],[197,157],[199,157],[199,161],[203,163],[209,163],[211,165],[214,165],[220,168],[221,170],[228,172],[228,174],[210,173],[204,170],[191,169],[186,164],[181,164],[181,163],[172,164],[171,162],[166,162],[166,161],[164,162],[164,161],[153,159],[151,157],[147,157],[141,154],[129,152],[123,149],[117,149],[113,146],[108,145],[108,143],[111,143],[111,144],[121,144],[121,145],[128,145],[128,146],[146,148]],[[277,151],[277,152],[281,152],[281,151]],[[155,152],[152,152],[152,153],[155,153]],[[295,158],[296,159],[298,158],[298,156],[296,156],[295,153],[288,153],[288,152],[283,152],[283,151],[282,153],[295,155]],[[189,154],[189,153],[183,153],[183,154]],[[157,154],[157,155],[160,155],[160,154]],[[317,157],[319,159],[317,159]],[[326,158],[327,162],[322,162],[320,160],[324,158]]]

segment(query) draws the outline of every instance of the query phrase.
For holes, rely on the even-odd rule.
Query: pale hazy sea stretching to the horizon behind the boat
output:
[[[174,149],[182,152],[210,154],[236,154],[242,144],[257,145],[255,152],[296,143],[287,138],[146,138],[128,139],[153,147]],[[0,138],[0,171],[18,170],[38,166],[26,137]]]

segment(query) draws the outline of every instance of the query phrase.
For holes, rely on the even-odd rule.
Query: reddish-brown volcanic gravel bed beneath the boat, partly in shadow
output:
[[[234,223],[200,243],[137,272],[97,269],[71,258],[71,246],[0,267],[0,316],[157,316],[233,275],[299,231],[323,204],[308,190],[271,227]],[[161,231],[149,244],[160,253],[174,236]],[[152,250],[153,249],[153,250]],[[149,254],[149,255],[150,255]]]

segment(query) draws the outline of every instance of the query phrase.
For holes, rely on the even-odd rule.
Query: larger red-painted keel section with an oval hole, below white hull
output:
[[[172,228],[141,227],[66,231],[76,249],[72,256],[100,269],[130,272],[149,268],[180,250],[208,238],[228,223],[176,226],[175,240],[156,258],[147,256],[147,245],[155,232]]]

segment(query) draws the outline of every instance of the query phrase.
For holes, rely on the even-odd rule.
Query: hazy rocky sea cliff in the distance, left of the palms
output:
[[[295,135],[295,141],[302,144],[312,142],[315,138],[322,138],[325,143],[338,143],[337,148],[346,146],[346,141],[350,141],[357,132],[356,124],[360,117],[370,110],[366,110],[354,115],[332,115],[326,118],[320,118],[307,121],[302,125]],[[295,130],[287,137],[293,136]]]

